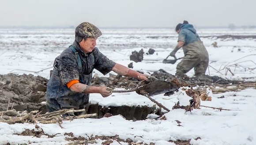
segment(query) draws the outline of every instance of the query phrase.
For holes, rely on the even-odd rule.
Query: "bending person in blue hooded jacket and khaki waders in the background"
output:
[[[192,68],[195,70],[195,76],[204,76],[209,63],[209,55],[196,33],[196,29],[184,21],[183,24],[179,23],[176,26],[175,31],[179,34],[178,43],[169,56],[175,57],[176,52],[181,47],[184,52],[184,57],[177,65],[175,76],[189,80],[186,73]]]

